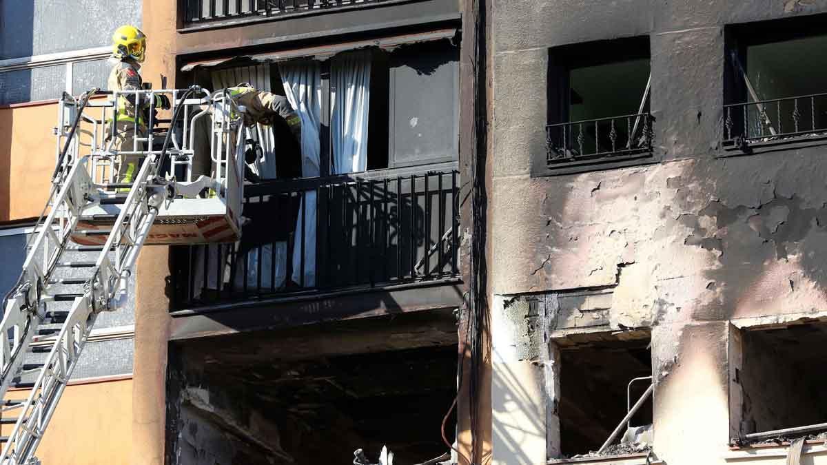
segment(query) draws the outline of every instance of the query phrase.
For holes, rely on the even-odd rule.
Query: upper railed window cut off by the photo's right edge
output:
[[[724,147],[752,151],[827,136],[825,17],[727,30]]]

